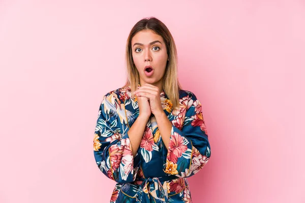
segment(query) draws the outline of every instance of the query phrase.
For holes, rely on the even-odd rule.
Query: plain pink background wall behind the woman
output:
[[[0,202],[109,202],[93,154],[102,96],[155,16],[203,105],[194,202],[305,202],[304,1],[0,1]]]

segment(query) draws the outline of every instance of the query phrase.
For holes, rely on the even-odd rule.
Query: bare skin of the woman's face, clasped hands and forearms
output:
[[[151,113],[156,117],[162,141],[167,149],[172,123],[164,113],[160,100],[168,60],[163,38],[152,30],[142,30],[132,38],[131,45],[133,61],[139,72],[141,85],[133,92],[137,96],[139,117],[128,131],[132,152],[135,156]],[[146,65],[153,67],[154,74],[152,76],[145,75]]]

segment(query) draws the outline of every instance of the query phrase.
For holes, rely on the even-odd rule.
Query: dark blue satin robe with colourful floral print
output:
[[[129,87],[104,95],[93,146],[98,167],[116,182],[111,203],[192,202],[186,178],[198,173],[210,157],[202,106],[186,90],[179,90],[179,108],[173,109],[164,91],[160,100],[172,123],[168,149],[152,115],[133,156],[128,131],[139,116],[137,98]]]

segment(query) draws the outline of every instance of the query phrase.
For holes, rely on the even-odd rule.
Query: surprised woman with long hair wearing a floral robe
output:
[[[94,155],[117,182],[110,202],[191,202],[186,177],[210,157],[200,101],[177,80],[168,28],[144,18],[127,40],[128,80],[108,92],[97,120]]]

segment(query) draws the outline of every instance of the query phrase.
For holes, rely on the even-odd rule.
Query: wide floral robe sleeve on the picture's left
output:
[[[123,114],[124,112],[124,114]],[[133,157],[128,130],[123,130],[120,117],[125,116],[115,97],[107,93],[100,105],[94,136],[94,156],[100,170],[117,183],[135,180],[139,155]]]

